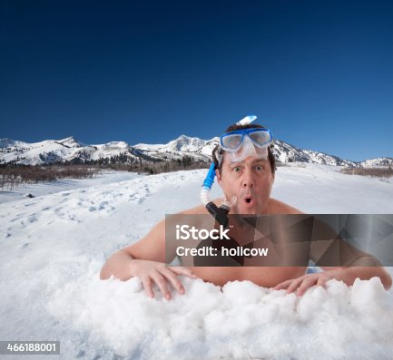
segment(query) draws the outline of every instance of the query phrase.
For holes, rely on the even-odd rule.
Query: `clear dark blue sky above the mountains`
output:
[[[393,156],[391,1],[3,1],[0,138],[210,139]]]

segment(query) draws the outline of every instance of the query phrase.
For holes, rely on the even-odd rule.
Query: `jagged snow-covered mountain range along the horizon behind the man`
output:
[[[136,162],[168,161],[190,156],[194,160],[211,161],[211,151],[217,145],[218,137],[205,141],[181,135],[166,144],[130,145],[124,141],[106,144],[86,145],[70,136],[63,140],[46,140],[27,143],[11,139],[0,139],[0,163],[40,165],[54,162],[121,161]],[[391,166],[393,158],[378,158],[366,161],[349,161],[318,151],[303,150],[287,142],[274,142],[274,154],[280,162],[310,162],[346,167]]]

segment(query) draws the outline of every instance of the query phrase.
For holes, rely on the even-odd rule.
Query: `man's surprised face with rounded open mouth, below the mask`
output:
[[[236,196],[232,207],[238,214],[261,214],[267,211],[274,175],[270,161],[248,157],[240,162],[231,162],[223,157],[221,175],[216,170],[217,180],[228,200]]]

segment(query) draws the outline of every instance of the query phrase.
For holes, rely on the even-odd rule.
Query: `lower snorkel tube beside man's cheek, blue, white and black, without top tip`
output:
[[[209,172],[203,181],[202,187],[201,187],[201,192],[200,192],[200,197],[201,197],[201,202],[204,205],[204,207],[211,213],[214,219],[216,219],[220,225],[222,225],[224,228],[228,227],[228,214],[231,210],[231,203],[229,201],[225,200],[225,197],[223,197],[223,201],[218,207],[214,202],[212,202],[209,198],[209,193],[211,191],[211,186],[214,182],[214,178],[216,176],[216,171],[215,171],[215,165],[214,162],[211,163],[211,167],[209,169]]]

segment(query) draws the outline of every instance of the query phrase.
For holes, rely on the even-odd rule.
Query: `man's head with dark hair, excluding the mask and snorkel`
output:
[[[265,128],[258,124],[231,125],[225,132],[246,129]],[[231,156],[231,153],[223,151],[220,145],[212,151],[217,180],[222,190],[227,199],[232,199],[234,196],[237,198],[233,207],[235,212],[260,214],[267,210],[276,170],[270,146],[267,149],[266,159],[251,154],[237,160],[236,157]]]

